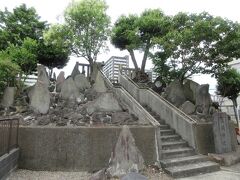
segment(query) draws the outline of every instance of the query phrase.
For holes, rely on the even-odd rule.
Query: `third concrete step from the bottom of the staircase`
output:
[[[193,148],[190,147],[162,150],[163,159],[192,156],[194,154],[196,154],[195,151],[193,150]]]

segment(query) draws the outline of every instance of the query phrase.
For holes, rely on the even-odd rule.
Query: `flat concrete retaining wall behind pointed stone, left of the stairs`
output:
[[[130,127],[146,164],[156,161],[154,127]],[[121,127],[20,127],[19,167],[95,171],[108,166]]]

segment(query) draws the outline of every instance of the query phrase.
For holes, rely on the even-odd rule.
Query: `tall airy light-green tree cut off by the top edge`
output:
[[[72,32],[72,52],[92,64],[100,51],[106,50],[110,17],[103,0],[72,2],[65,10],[65,21]]]

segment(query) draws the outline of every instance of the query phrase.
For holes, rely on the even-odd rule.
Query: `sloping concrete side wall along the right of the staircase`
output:
[[[140,104],[149,106],[165,120],[197,152],[215,152],[212,123],[196,123],[152,90],[138,87],[123,75],[119,76],[119,82]]]

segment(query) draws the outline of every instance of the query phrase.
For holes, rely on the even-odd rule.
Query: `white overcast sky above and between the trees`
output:
[[[49,23],[61,22],[63,12],[72,0],[0,0],[0,9],[7,7],[9,10],[19,6],[22,3],[28,7],[34,7],[41,16],[41,20]],[[240,1],[239,0],[106,0],[108,4],[107,13],[111,17],[112,24],[121,15],[140,14],[145,9],[160,8],[167,15],[175,15],[178,12],[200,13],[209,12],[214,16],[221,16],[232,21],[240,22]],[[111,56],[128,55],[126,51],[119,51],[109,44],[107,53],[101,54],[98,61],[106,61]],[[142,59],[142,54],[137,55],[137,59]],[[66,75],[71,73],[75,61],[82,59],[71,57],[68,65],[63,69]],[[130,64],[131,66],[131,64]],[[147,63],[147,69],[152,67],[150,60]],[[59,71],[58,71],[59,72]],[[210,88],[214,88],[216,81],[205,75],[197,75],[194,80],[200,84],[209,83]]]

